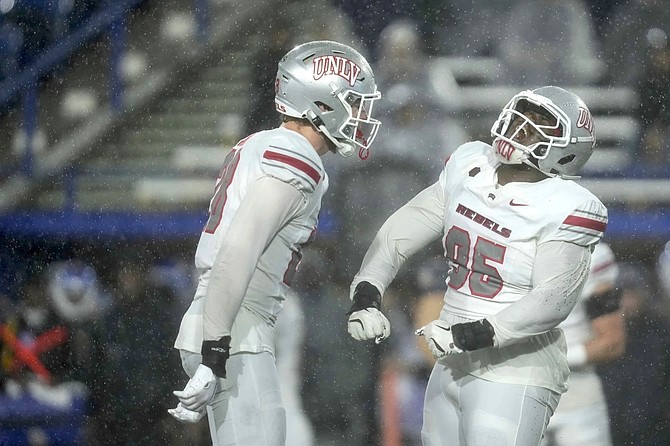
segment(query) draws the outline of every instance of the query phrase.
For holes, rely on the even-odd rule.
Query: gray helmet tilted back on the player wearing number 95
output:
[[[549,125],[532,122],[524,112],[533,110],[549,118]],[[509,126],[516,118],[524,122]],[[542,140],[530,146],[514,141],[514,136],[532,126]],[[579,96],[560,87],[526,90],[514,96],[491,128],[493,148],[501,162],[528,164],[547,176],[579,178],[576,174],[593,154],[596,143],[593,117]]]

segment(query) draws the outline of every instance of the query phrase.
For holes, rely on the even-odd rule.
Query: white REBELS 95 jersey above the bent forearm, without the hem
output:
[[[440,175],[445,254],[450,262],[445,310],[467,319],[500,312],[533,288],[538,245],[598,243],[607,210],[571,180],[497,183],[496,160],[483,142],[461,146]]]

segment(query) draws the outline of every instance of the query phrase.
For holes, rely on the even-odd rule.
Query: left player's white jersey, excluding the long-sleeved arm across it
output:
[[[305,204],[265,248],[232,327],[231,353],[274,351],[274,323],[300,261],[301,247],[311,241],[318,223],[328,176],[319,154],[302,135],[279,127],[255,133],[228,154],[216,181],[195,254],[198,289],[182,320],[175,348],[200,352],[203,304],[209,272],[235,212],[251,184],[271,176],[297,188]]]

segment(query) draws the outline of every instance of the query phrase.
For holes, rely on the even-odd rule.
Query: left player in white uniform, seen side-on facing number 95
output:
[[[175,342],[191,379],[169,412],[184,422],[207,412],[215,445],[284,446],[274,325],[328,188],[320,157],[366,156],[380,124],[370,65],[337,42],[289,51],[275,91],[283,123],[237,143],[217,179]]]

